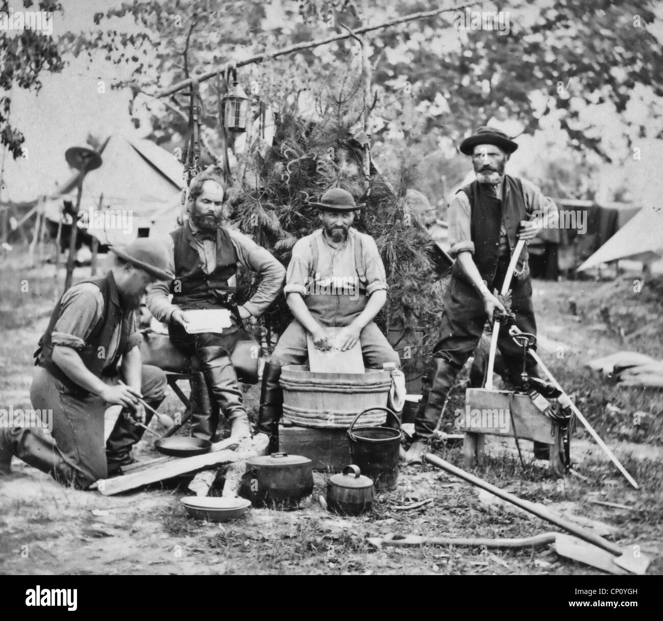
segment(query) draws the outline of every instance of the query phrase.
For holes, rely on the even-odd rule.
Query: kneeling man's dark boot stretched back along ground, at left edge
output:
[[[67,463],[57,445],[31,429],[0,429],[0,477],[11,474],[12,456],[51,475],[59,483],[69,483],[77,489],[86,489],[94,482],[92,477]]]

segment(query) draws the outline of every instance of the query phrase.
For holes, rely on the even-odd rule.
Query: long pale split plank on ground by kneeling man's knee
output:
[[[160,480],[172,479],[172,477],[177,477],[178,475],[195,472],[221,463],[238,461],[239,459],[247,459],[247,455],[225,450],[206,453],[205,455],[194,455],[194,457],[182,457],[182,459],[176,459],[175,461],[169,461],[164,464],[156,464],[151,468],[124,475],[123,477],[101,479],[98,483],[98,489],[104,496],[113,496],[113,494],[127,492],[128,490],[156,483]]]

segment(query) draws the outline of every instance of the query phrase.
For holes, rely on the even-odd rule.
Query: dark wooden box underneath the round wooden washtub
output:
[[[316,471],[341,471],[352,463],[347,429],[281,426],[278,448],[290,455],[303,455]]]

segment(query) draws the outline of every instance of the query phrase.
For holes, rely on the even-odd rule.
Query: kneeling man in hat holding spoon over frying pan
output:
[[[134,313],[149,284],[172,277],[168,256],[145,238],[111,252],[115,264],[105,276],[79,282],[60,298],[35,353],[30,400],[36,410],[52,410],[56,443],[36,429],[0,429],[0,477],[10,473],[15,455],[62,484],[86,489],[131,461],[131,445],[140,434],[127,440],[124,428],[140,428],[126,412],[148,423],[152,414],[138,398],[152,408],[164,398],[164,372],[141,364]],[[111,404],[123,406],[125,414],[104,451],[104,412]]]

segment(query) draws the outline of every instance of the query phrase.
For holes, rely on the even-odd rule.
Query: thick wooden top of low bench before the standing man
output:
[[[508,390],[467,388],[465,410],[463,416],[459,417],[461,424],[458,429],[505,437],[517,435],[518,439],[554,444],[556,423],[541,414],[526,394],[511,396],[512,393]],[[514,433],[514,426],[516,433]]]

